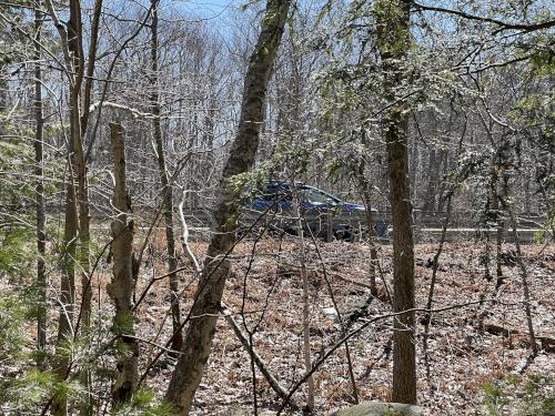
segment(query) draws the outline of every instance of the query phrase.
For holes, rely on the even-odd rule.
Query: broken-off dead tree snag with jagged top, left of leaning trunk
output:
[[[139,379],[139,344],[134,337],[135,316],[132,303],[138,267],[133,256],[134,231],[131,197],[125,184],[123,128],[120,123],[110,123],[110,138],[115,177],[113,206],[118,211],[112,221],[113,277],[107,286],[107,292],[115,305],[112,329],[119,336],[117,342],[119,356],[112,398],[114,404],[119,404],[131,398]]]

